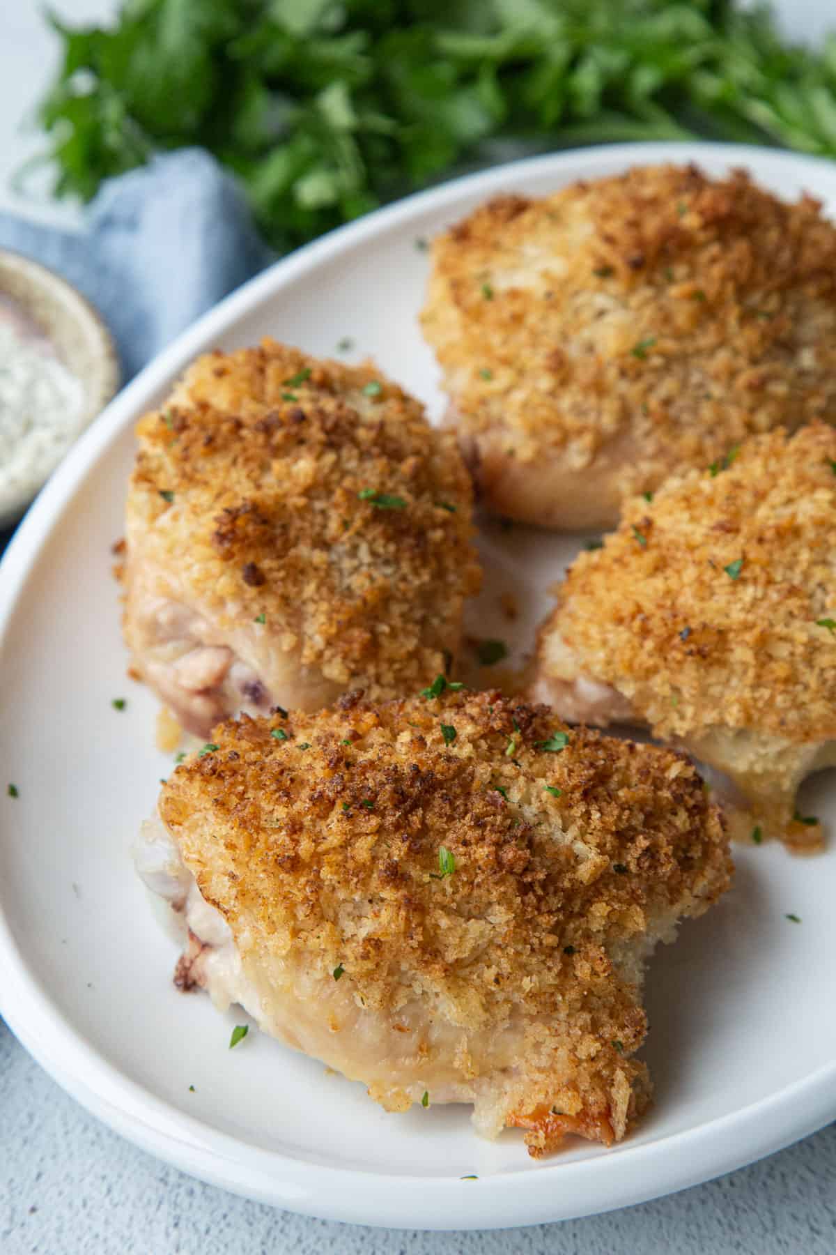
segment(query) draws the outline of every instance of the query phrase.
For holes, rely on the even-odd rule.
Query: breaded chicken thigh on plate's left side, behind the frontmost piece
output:
[[[137,434],[124,635],[185,728],[395,697],[456,653],[480,581],[470,478],[379,371],[218,351]]]

